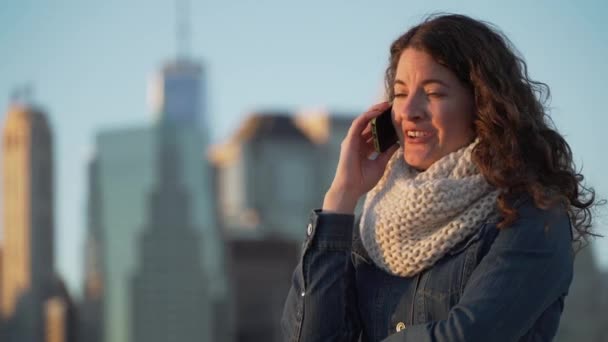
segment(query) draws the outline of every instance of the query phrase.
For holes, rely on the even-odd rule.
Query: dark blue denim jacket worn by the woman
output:
[[[515,208],[508,228],[489,220],[408,278],[371,261],[353,215],[313,211],[283,341],[551,341],[572,281],[570,220],[529,199]]]

